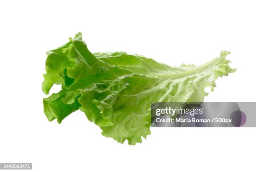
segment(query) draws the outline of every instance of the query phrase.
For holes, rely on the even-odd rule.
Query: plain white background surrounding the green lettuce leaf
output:
[[[254,2],[1,1],[0,162],[31,162],[35,172],[255,171],[255,128],[152,128],[129,146],[103,137],[81,111],[61,124],[47,121],[41,91],[45,52],[81,31],[92,52],[137,53],[172,66],[228,50],[238,70],[219,78],[205,101],[255,102]]]

